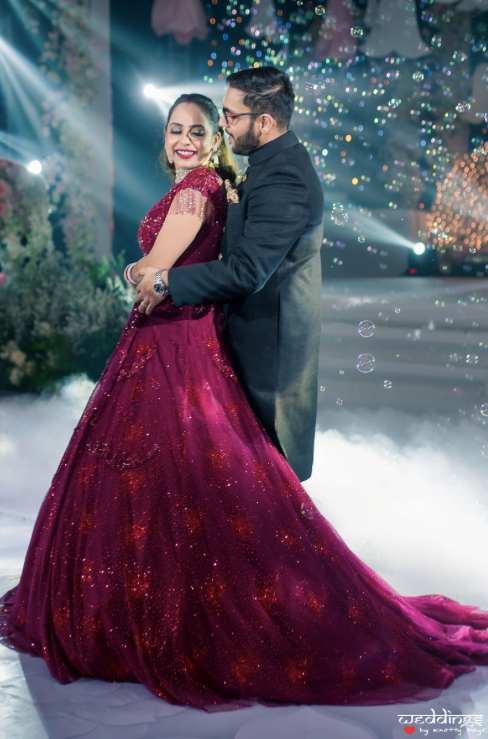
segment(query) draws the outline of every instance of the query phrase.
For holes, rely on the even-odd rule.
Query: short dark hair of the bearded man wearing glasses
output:
[[[247,108],[268,113],[278,128],[288,128],[295,93],[287,74],[276,67],[253,67],[229,75],[227,83],[244,93],[242,102]]]

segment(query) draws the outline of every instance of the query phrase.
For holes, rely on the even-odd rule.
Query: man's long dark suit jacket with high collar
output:
[[[267,432],[301,480],[317,416],[323,195],[292,131],[253,151],[229,204],[221,260],[169,271],[177,306],[228,303],[235,370]]]

